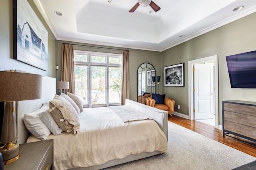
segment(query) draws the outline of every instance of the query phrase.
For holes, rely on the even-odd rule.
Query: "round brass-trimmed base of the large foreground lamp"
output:
[[[14,147],[10,149],[4,149],[5,146],[0,148],[0,152],[3,155],[4,165],[10,164],[20,158],[19,147],[18,143],[14,143]]]

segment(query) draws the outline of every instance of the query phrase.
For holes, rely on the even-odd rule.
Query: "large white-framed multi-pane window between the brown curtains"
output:
[[[74,50],[76,95],[84,107],[120,105],[122,55]]]

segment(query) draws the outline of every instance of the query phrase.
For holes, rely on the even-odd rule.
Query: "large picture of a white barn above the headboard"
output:
[[[48,31],[27,0],[13,0],[13,59],[48,70]]]

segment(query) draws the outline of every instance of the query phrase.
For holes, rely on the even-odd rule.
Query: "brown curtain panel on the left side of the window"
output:
[[[63,89],[63,92],[75,94],[75,69],[74,69],[74,45],[62,44],[62,66],[61,80],[69,82],[69,89]]]

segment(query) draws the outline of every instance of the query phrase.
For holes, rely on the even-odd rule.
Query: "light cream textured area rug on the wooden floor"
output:
[[[168,153],[104,170],[231,170],[254,160],[253,156],[168,121]]]

